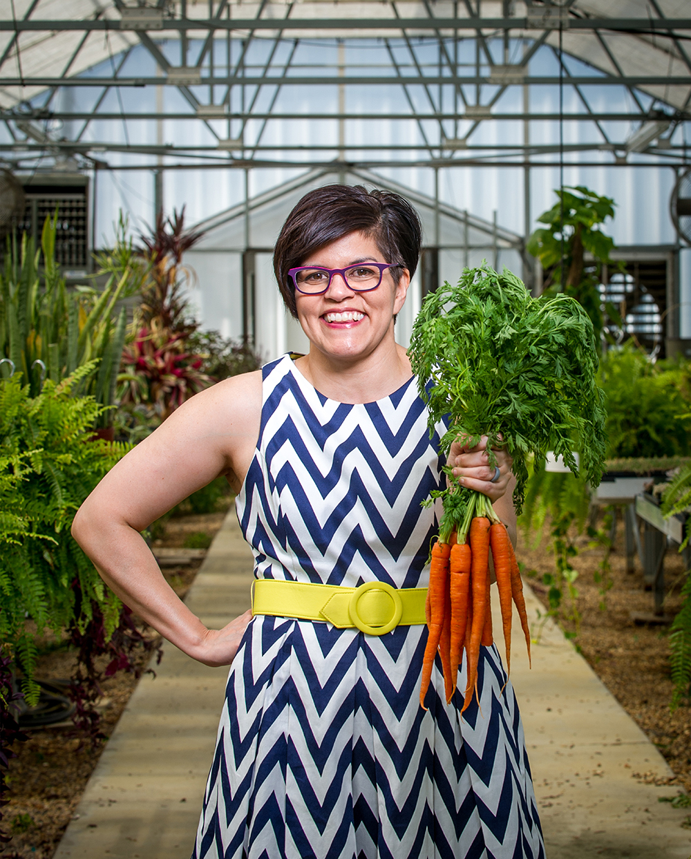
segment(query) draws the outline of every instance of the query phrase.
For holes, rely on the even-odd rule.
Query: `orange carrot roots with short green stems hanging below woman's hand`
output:
[[[489,597],[489,551],[499,590],[501,621],[506,642],[506,672],[511,669],[512,601],[518,609],[530,661],[530,631],[525,612],[523,584],[506,526],[494,513],[488,499],[473,493],[458,532],[437,540],[427,589],[427,647],[422,663],[420,704],[432,677],[434,657],[439,650],[444,669],[446,703],[450,703],[458,678],[458,666],[466,653],[467,682],[461,712],[470,705],[477,685],[480,647],[493,643]]]

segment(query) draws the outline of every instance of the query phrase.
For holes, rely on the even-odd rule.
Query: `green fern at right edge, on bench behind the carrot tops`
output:
[[[609,456],[691,454],[691,364],[653,363],[632,344],[603,356],[599,384],[607,397]]]

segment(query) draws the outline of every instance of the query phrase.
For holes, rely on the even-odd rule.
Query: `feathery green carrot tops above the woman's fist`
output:
[[[409,355],[430,428],[451,416],[445,450],[458,436],[476,443],[487,435],[489,445],[506,445],[518,513],[530,454],[539,467],[553,450],[579,473],[573,458],[579,450],[585,478],[599,483],[603,392],[591,321],[573,298],[531,298],[506,268],[502,274],[488,265],[465,269],[457,286],[445,283],[425,298]]]

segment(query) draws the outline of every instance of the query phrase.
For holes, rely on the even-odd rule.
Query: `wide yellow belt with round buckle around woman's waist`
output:
[[[356,627],[383,636],[399,625],[424,624],[427,588],[391,588],[365,582],[359,588],[257,579],[252,587],[252,614],[328,621],[338,629]]]

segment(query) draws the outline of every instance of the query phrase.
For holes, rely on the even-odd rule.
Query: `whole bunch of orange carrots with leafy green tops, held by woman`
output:
[[[528,458],[537,468],[549,450],[579,468],[591,486],[602,477],[607,450],[604,394],[597,386],[597,341],[588,314],[559,293],[533,298],[506,268],[487,264],[464,269],[458,283],[427,293],[415,318],[408,350],[418,390],[427,405],[430,435],[446,426],[439,448],[463,436],[469,448],[487,437],[492,449],[512,455],[513,504],[520,514]],[[579,450],[580,466],[573,450]],[[447,470],[452,478],[452,471]],[[477,682],[481,646],[492,642],[489,611],[489,550],[499,589],[509,665],[512,600],[528,644],[530,636],[518,564],[504,527],[485,496],[450,479],[428,503],[441,499],[439,542],[433,547],[420,701],[437,650],[444,667],[446,698],[456,687],[458,664],[467,656],[463,710]]]

